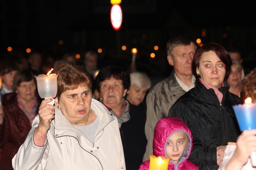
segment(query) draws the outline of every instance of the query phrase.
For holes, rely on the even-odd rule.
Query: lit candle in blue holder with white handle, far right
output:
[[[244,104],[234,105],[234,112],[241,131],[256,129],[256,104],[252,103],[252,98],[247,98]],[[256,167],[256,152],[250,155],[253,167]]]

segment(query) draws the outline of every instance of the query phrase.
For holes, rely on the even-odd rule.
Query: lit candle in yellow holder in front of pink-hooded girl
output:
[[[150,155],[150,170],[167,170],[171,158]]]

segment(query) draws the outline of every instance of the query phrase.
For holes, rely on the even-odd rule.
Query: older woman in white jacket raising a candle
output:
[[[42,101],[13,168],[126,169],[117,119],[91,98],[89,75],[70,64],[57,74],[55,106]]]

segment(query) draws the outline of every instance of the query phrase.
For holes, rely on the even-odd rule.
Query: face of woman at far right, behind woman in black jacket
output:
[[[232,65],[231,71],[228,75],[227,83],[233,87],[239,86],[240,82],[241,82],[241,73],[242,73],[241,68],[238,68],[238,67]]]

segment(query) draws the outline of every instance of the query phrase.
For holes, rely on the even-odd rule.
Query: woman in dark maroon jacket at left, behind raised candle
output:
[[[4,120],[0,124],[1,169],[13,170],[12,158],[25,141],[38,114],[39,98],[34,75],[29,70],[16,73],[12,93],[3,96]]]

